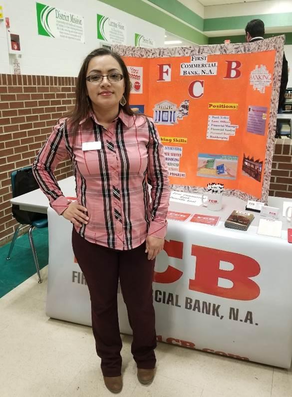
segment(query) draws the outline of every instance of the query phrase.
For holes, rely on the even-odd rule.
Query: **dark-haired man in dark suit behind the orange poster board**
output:
[[[261,19],[250,20],[246,25],[245,30],[246,30],[246,41],[248,43],[264,39],[265,24]],[[281,85],[280,85],[280,94],[279,94],[279,103],[278,103],[278,113],[283,112],[287,83],[288,83],[288,62],[285,53],[283,53],[283,65],[282,65]]]

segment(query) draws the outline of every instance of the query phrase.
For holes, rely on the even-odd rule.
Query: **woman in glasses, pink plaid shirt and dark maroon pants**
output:
[[[33,164],[51,207],[73,224],[72,247],[90,293],[96,352],[113,393],[122,389],[119,281],[138,380],[148,384],[154,378],[152,280],[170,196],[158,131],[151,118],[131,110],[129,94],[122,58],[105,48],[90,52],[77,77],[73,111],[57,122]],[[77,202],[64,197],[53,174],[66,156],[73,164]]]

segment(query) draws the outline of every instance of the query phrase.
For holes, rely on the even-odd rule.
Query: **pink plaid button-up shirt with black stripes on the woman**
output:
[[[100,149],[82,150],[83,143],[94,141],[100,142]],[[90,111],[75,137],[68,119],[59,120],[33,164],[40,189],[59,215],[70,201],[53,171],[67,155],[78,204],[86,207],[89,217],[87,225],[75,226],[80,236],[117,250],[138,247],[147,235],[165,237],[170,188],[163,145],[152,119],[120,111],[104,128]]]

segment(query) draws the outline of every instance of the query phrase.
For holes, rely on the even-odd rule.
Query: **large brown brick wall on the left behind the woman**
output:
[[[11,240],[17,222],[11,214],[10,173],[32,165],[56,120],[73,103],[74,77],[0,74],[0,245]],[[57,179],[72,175],[62,161]]]

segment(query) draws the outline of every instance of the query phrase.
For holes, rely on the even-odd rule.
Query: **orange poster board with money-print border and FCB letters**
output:
[[[130,103],[157,125],[174,189],[268,199],[284,36],[255,43],[115,46],[131,72]],[[129,54],[131,56],[129,56]]]

